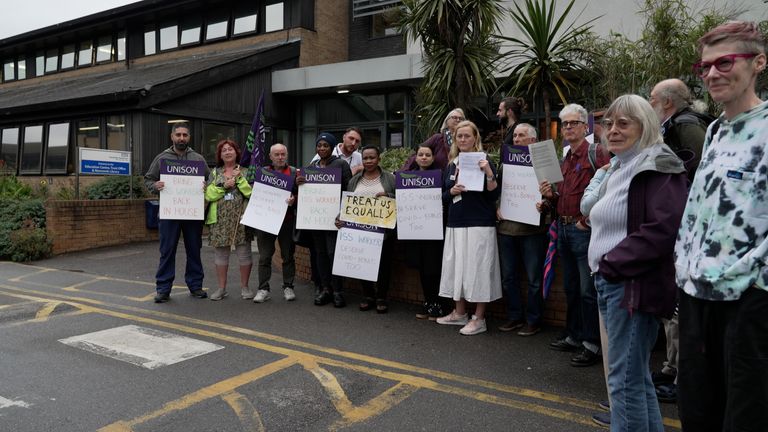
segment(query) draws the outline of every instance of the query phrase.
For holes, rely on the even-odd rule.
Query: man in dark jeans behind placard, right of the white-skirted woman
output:
[[[516,146],[533,144],[536,142],[536,129],[528,123],[520,123],[515,127],[513,137],[513,143]],[[507,148],[511,150],[511,147]],[[500,164],[499,183],[502,182],[503,174]],[[504,332],[518,330],[517,334],[520,336],[533,336],[541,331],[541,314],[544,308],[541,283],[544,274],[544,257],[547,253],[547,230],[551,219],[548,221],[546,214],[542,214],[538,225],[530,225],[504,220],[499,210],[496,213],[499,220],[496,231],[501,263],[501,286],[507,300],[508,319],[499,327],[499,330]],[[517,272],[520,261],[528,275],[525,318],[520,301],[520,275]]]

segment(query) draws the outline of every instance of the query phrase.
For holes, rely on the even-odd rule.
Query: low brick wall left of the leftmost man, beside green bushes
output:
[[[53,253],[158,239],[146,228],[145,200],[53,201],[45,204]]]

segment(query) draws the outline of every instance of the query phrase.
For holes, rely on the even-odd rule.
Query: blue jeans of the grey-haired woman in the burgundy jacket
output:
[[[598,305],[608,333],[611,431],[663,432],[648,362],[659,333],[655,316],[621,307],[624,284],[595,277]],[[603,347],[606,349],[606,347]]]

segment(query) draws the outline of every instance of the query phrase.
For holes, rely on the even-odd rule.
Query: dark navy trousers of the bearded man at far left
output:
[[[161,219],[158,222],[160,232],[160,265],[155,274],[158,294],[171,292],[176,278],[176,248],[179,237],[184,236],[184,250],[187,252],[187,267],[184,281],[190,291],[203,288],[203,262],[200,249],[203,247],[203,221]]]

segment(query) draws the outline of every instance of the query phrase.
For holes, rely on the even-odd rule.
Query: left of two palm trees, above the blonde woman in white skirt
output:
[[[403,0],[399,30],[422,45],[423,132],[437,129],[450,109],[468,109],[474,96],[493,90],[494,34],[503,14],[498,0]]]

